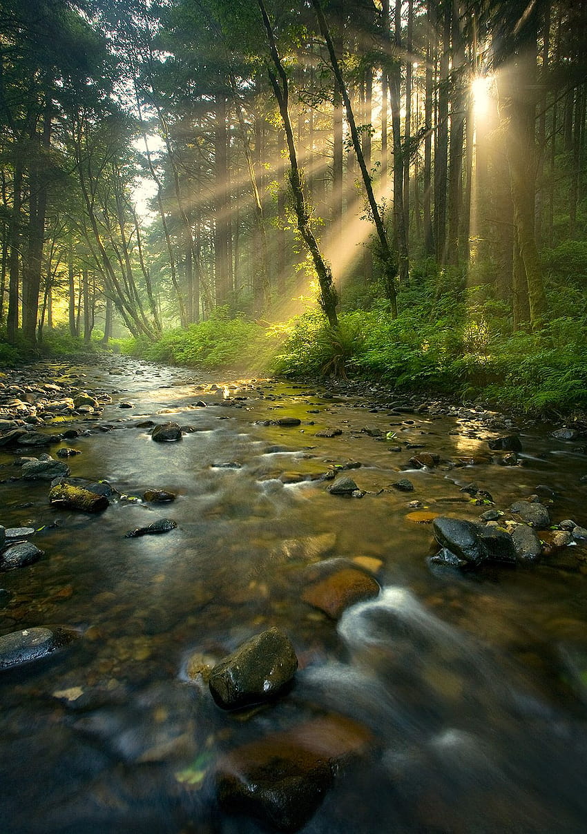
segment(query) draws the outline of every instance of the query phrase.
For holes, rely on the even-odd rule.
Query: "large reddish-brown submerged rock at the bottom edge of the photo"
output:
[[[332,786],[339,762],[371,738],[355,721],[325,716],[238,747],[216,766],[218,802],[271,830],[298,831]]]

